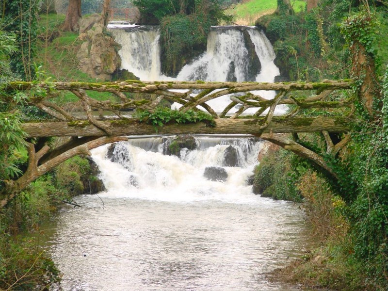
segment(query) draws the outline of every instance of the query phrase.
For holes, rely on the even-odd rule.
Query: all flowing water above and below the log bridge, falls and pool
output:
[[[112,31],[124,68],[164,79],[154,28]],[[208,51],[178,78],[273,81],[274,57],[257,29],[214,27]],[[167,155],[173,138],[132,137],[92,150],[106,191],[75,197],[81,208],[54,221],[50,252],[63,290],[297,290],[260,275],[297,256],[304,228],[297,206],[252,193],[262,142],[196,136],[196,148],[178,158]]]

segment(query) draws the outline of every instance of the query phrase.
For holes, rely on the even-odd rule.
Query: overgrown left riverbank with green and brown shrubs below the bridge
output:
[[[86,158],[70,159],[33,181],[1,209],[1,290],[59,287],[62,275],[41,247],[45,233],[40,226],[73,196],[101,190],[95,170]]]

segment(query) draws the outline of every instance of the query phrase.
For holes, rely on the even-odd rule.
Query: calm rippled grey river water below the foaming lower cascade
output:
[[[64,290],[294,290],[262,275],[299,253],[295,206],[83,196],[51,248]]]

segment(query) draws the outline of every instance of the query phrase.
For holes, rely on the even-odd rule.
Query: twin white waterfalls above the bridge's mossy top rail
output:
[[[122,68],[144,81],[171,79],[160,65],[160,34],[152,26],[109,25],[121,45]],[[271,43],[256,27],[213,26],[207,50],[185,65],[177,79],[182,81],[274,81],[279,70],[274,64]]]

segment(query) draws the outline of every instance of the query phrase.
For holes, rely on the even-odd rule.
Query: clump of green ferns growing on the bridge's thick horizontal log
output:
[[[146,122],[155,127],[162,127],[164,124],[174,122],[178,124],[188,124],[196,122],[205,122],[208,126],[215,126],[213,117],[199,110],[188,110],[182,113],[178,110],[171,110],[170,108],[158,107],[155,112],[137,111],[134,115],[139,118],[141,122]]]

